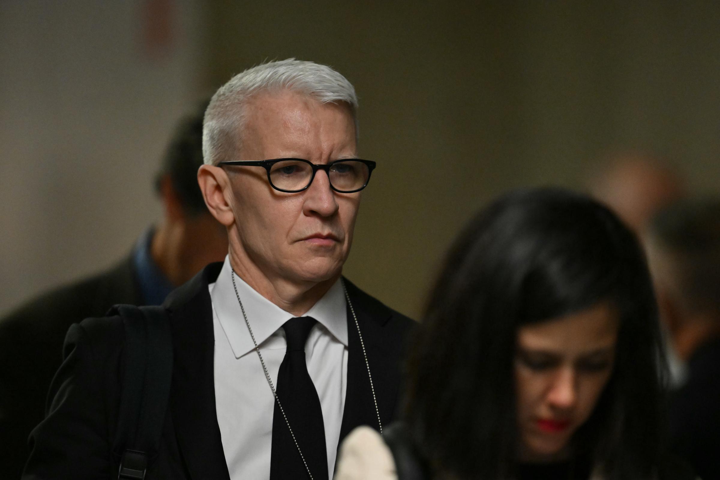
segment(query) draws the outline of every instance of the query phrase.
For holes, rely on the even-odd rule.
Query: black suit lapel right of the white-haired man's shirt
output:
[[[390,320],[392,311],[383,304],[365,294],[347,279],[343,279],[348,289],[348,296],[355,310],[360,326],[362,340],[367,353],[367,361],[372,373],[375,399],[380,412],[382,425],[387,425],[395,413],[397,399],[397,382],[388,381],[389,376],[395,378],[397,368],[388,364],[387,342],[383,338],[383,327]],[[375,399],[373,399],[370,380],[363,356],[363,348],[358,335],[350,306],[348,305],[348,381],[345,394],[345,408],[340,428],[340,441],[355,427],[369,425],[379,430]],[[389,339],[392,343],[392,339]],[[397,350],[395,345],[394,350]]]

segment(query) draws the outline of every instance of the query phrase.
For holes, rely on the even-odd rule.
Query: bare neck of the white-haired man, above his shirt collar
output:
[[[330,290],[341,275],[338,272],[328,280],[292,281],[261,271],[244,253],[230,248],[230,266],[235,275],[246,284],[286,312],[300,317],[310,310]]]

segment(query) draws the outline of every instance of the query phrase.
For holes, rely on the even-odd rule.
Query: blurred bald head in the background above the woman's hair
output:
[[[593,172],[590,194],[642,235],[652,215],[685,196],[685,182],[667,163],[647,153],[611,155]]]

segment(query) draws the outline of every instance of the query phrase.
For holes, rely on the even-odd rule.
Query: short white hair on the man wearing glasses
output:
[[[202,127],[202,157],[206,165],[233,160],[243,140],[248,99],[259,92],[289,90],[320,103],[343,102],[350,108],[358,135],[355,88],[326,65],[288,58],[263,63],[238,73],[215,92]]]

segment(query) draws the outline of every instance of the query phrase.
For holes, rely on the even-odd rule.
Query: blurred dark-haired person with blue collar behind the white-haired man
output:
[[[197,185],[207,100],[181,119],[156,178],[163,218],[130,254],[102,273],[41,294],[0,320],[0,478],[14,479],[45,416],[48,386],[62,361],[68,327],[101,317],[114,304],[161,304],[175,286],[228,251],[224,227]]]

